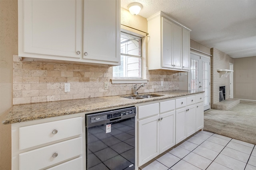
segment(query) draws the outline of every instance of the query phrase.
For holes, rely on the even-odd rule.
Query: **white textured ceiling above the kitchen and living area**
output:
[[[121,0],[142,4],[140,16],[162,11],[191,28],[190,39],[232,58],[256,56],[256,0]]]

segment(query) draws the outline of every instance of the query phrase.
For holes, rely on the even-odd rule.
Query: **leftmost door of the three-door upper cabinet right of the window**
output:
[[[172,25],[162,17],[162,66],[172,68]]]

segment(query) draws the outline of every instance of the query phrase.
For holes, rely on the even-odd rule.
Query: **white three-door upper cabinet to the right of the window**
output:
[[[148,20],[148,69],[190,69],[190,29],[163,12]]]

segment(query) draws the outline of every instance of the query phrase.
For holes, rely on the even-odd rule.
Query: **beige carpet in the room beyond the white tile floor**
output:
[[[256,102],[240,101],[228,111],[204,111],[204,131],[256,145]]]

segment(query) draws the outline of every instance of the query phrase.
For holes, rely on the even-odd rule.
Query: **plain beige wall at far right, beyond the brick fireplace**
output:
[[[256,57],[234,59],[234,98],[256,100]]]

